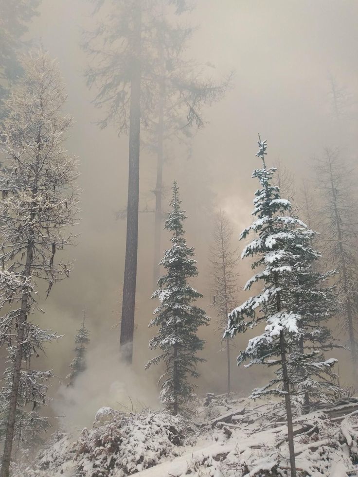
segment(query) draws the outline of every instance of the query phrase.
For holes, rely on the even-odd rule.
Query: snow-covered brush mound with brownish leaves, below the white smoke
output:
[[[179,455],[190,425],[163,412],[139,415],[102,408],[93,428],[84,428],[75,442],[54,434],[36,456],[36,464],[20,464],[15,476],[122,477],[136,474]],[[184,437],[185,431],[185,437]]]

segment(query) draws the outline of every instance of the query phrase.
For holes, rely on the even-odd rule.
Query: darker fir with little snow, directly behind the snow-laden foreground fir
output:
[[[337,347],[327,322],[336,310],[334,288],[328,281],[333,272],[321,272],[316,261],[321,254],[312,245],[317,233],[313,230],[294,230],[297,253],[286,258],[286,263],[295,272],[287,277],[291,288],[290,310],[298,325],[296,336],[287,339],[290,353],[287,369],[292,385],[291,396],[296,405],[309,412],[315,402],[333,403],[344,392],[333,371],[337,362],[325,359],[324,353]]]

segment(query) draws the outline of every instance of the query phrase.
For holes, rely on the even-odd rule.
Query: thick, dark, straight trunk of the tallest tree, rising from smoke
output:
[[[129,171],[127,200],[127,233],[125,242],[125,275],[123,283],[121,354],[127,363],[133,359],[134,312],[137,281],[138,209],[139,209],[139,153],[141,130],[141,0],[135,5],[133,76],[129,113]]]

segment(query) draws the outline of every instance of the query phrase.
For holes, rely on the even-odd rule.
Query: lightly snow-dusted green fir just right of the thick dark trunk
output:
[[[180,209],[179,189],[173,185],[170,202],[172,208],[165,222],[165,229],[172,232],[172,247],[165,251],[161,265],[166,275],[158,280],[159,289],[152,295],[161,302],[154,311],[155,318],[149,326],[159,326],[159,330],[149,343],[150,349],[160,348],[161,354],[151,359],[152,364],[164,362],[165,371],[161,375],[161,402],[173,415],[188,413],[187,403],[193,396],[195,386],[189,378],[197,378],[197,363],[205,361],[197,356],[205,341],[197,336],[199,326],[207,325],[210,318],[205,311],[192,303],[202,295],[189,283],[197,276],[194,248],[188,247],[184,238],[184,211]]]

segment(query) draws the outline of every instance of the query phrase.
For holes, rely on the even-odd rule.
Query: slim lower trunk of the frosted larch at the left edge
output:
[[[31,273],[31,264],[32,264],[32,254],[33,254],[33,241],[29,240],[27,251],[26,251],[26,265],[24,270],[24,276],[27,278]],[[21,375],[21,363],[22,363],[22,347],[24,341],[24,326],[27,320],[28,312],[28,297],[29,290],[24,290],[21,297],[21,308],[20,314],[18,317],[18,335],[16,337],[16,354],[14,362],[14,371],[13,371],[13,382],[11,387],[10,402],[9,402],[9,414],[7,417],[6,424],[6,434],[4,442],[4,450],[2,455],[2,464],[0,477],[9,477],[10,475],[10,463],[11,463],[11,454],[14,442],[15,434],[15,424],[16,424],[16,410],[18,406],[18,388],[20,383]]]

